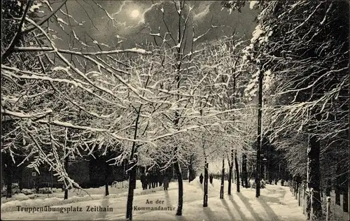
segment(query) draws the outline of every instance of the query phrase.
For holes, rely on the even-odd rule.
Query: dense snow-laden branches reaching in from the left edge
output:
[[[100,136],[109,137],[115,143],[127,139],[112,134],[110,124],[106,123],[118,117],[124,108],[118,90],[112,91],[111,85],[98,78],[104,76],[102,70],[109,74],[123,73],[123,70],[118,69],[119,64],[113,66],[104,62],[102,55],[149,52],[137,49],[78,52],[72,47],[69,50],[57,48],[55,41],[59,37],[55,34],[63,33],[62,24],[70,27],[75,36],[73,40],[81,43],[69,26],[73,17],[62,10],[65,3],[55,9],[49,1],[6,1],[3,4],[3,12],[7,14],[1,20],[6,33],[1,41],[1,122],[10,124],[8,129],[13,132],[1,134],[6,143],[1,146],[1,152],[10,155],[13,164],[30,162],[28,166],[37,171],[39,166],[48,164],[68,189],[79,185],[69,178],[62,157],[79,156],[84,151],[91,153],[96,146],[95,138]],[[43,13],[42,9],[46,13],[36,19],[32,13]],[[67,22],[58,14],[65,15]],[[48,24],[50,19],[54,24]],[[51,27],[61,30],[52,31]],[[98,66],[97,71],[87,69],[89,62]],[[116,76],[127,85],[123,78]],[[64,145],[67,128],[75,133],[69,138],[69,147]],[[69,151],[64,155],[66,148]],[[13,157],[16,152],[22,152],[25,157],[18,161]]]

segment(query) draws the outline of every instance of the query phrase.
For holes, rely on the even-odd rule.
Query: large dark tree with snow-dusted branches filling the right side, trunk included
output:
[[[233,9],[244,3],[223,2]],[[269,82],[265,133],[274,142],[307,139],[303,148],[288,145],[288,152],[304,152],[307,146],[307,182],[315,198],[311,206],[321,217],[321,176],[329,174],[321,175],[321,152],[332,142],[349,143],[349,23],[343,19],[349,17],[349,3],[251,1],[255,6],[261,13],[250,59],[264,73],[264,83]]]

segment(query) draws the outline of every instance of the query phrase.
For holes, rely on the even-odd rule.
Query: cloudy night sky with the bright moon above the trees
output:
[[[58,3],[56,3],[58,4]],[[97,5],[99,4],[99,5]],[[203,41],[215,41],[221,36],[230,35],[236,29],[239,36],[246,35],[251,38],[251,33],[256,24],[253,21],[258,14],[246,6],[241,13],[233,11],[231,14],[221,7],[221,1],[187,1],[186,8],[193,7],[193,14],[190,16],[190,27],[195,27],[196,35],[204,34],[211,25],[221,26],[212,29],[209,34],[202,38]],[[55,4],[53,5],[55,6]],[[99,43],[116,45],[120,42],[124,48],[133,48],[135,44],[142,43],[152,33],[164,34],[166,29],[162,21],[161,8],[165,10],[165,21],[170,30],[176,36],[176,22],[179,17],[176,13],[173,1],[67,1],[68,13],[74,17],[70,20],[76,35],[87,45],[94,45],[87,35]],[[102,10],[104,8],[106,11]],[[108,13],[108,15],[107,15]],[[58,13],[58,17],[65,15]],[[109,18],[111,17],[111,18]],[[78,25],[81,23],[83,25]],[[66,32],[69,27],[62,24]],[[150,29],[151,28],[151,29]],[[160,30],[160,31],[158,31]],[[190,34],[192,35],[192,34]],[[62,35],[60,35],[62,36]],[[73,36],[71,36],[73,38]],[[57,42],[60,46],[66,47],[69,38],[63,36],[62,41]],[[57,40],[59,41],[59,40]],[[121,42],[123,41],[123,42]],[[62,45],[61,45],[62,44]],[[74,45],[74,48],[82,48],[83,45]],[[114,48],[114,47],[113,47]]]

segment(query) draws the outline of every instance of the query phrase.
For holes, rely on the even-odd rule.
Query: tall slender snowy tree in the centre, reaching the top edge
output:
[[[165,9],[172,7],[171,11]],[[192,120],[198,117],[200,106],[191,104],[194,102],[195,94],[197,94],[197,88],[200,87],[201,82],[195,84],[195,78],[193,75],[195,66],[193,60],[199,51],[195,50],[195,41],[200,39],[204,34],[195,36],[195,27],[193,26],[193,13],[192,9],[186,1],[174,1],[173,3],[161,3],[160,11],[162,13],[165,29],[159,29],[159,33],[156,33],[151,27],[151,36],[154,37],[155,44],[159,44],[164,48],[164,61],[162,64],[167,66],[168,76],[171,76],[171,83],[164,83],[163,88],[167,88],[168,94],[172,94],[170,101],[172,102],[172,109],[174,113],[167,113],[167,119],[172,122],[172,128],[174,131],[181,131],[190,127]],[[178,22],[176,26],[171,26],[168,21],[165,20],[165,13],[176,14]],[[175,13],[176,12],[176,13]],[[193,29],[191,29],[193,26]],[[174,31],[176,30],[176,31]],[[159,40],[161,42],[159,43]],[[195,93],[195,94],[194,94]],[[193,125],[193,124],[192,124]],[[172,163],[174,163],[174,169],[176,177],[179,183],[179,202],[176,215],[182,215],[183,206],[183,180],[181,174],[180,162],[183,162],[183,150],[186,150],[183,146],[183,138],[179,136],[172,137],[173,142],[176,145],[168,146],[169,150],[172,150]]]

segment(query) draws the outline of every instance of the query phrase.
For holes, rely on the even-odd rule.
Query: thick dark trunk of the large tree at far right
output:
[[[320,218],[322,215],[321,207],[321,194],[320,194],[320,183],[321,183],[321,172],[320,172],[320,141],[318,137],[311,135],[309,137],[309,148],[307,152],[308,157],[308,176],[307,185],[314,191],[312,199],[312,208],[316,218]],[[312,214],[311,214],[312,215]]]

